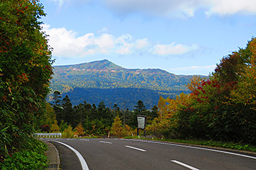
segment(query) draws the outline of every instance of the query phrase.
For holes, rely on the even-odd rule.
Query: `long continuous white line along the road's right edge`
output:
[[[161,144],[161,145],[172,145],[172,146],[176,146],[176,147],[188,147],[188,148],[193,148],[193,149],[201,149],[201,150],[207,150],[207,151],[212,151],[212,152],[220,152],[223,154],[233,154],[233,155],[240,156],[240,157],[256,159],[256,157],[248,156],[246,154],[236,154],[233,152],[226,152],[226,151],[222,151],[222,150],[208,149],[208,148],[203,148],[203,147],[192,147],[192,146],[187,146],[187,145],[178,145],[178,144],[173,144],[173,143],[156,142],[156,141],[148,141],[148,140],[134,140],[134,141],[156,143],[156,144]]]

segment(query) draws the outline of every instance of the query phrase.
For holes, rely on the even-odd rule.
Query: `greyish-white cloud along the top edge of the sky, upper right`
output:
[[[193,17],[199,8],[206,15],[231,15],[235,13],[256,14],[255,0],[105,0],[107,6],[117,13],[139,12],[175,18]]]

